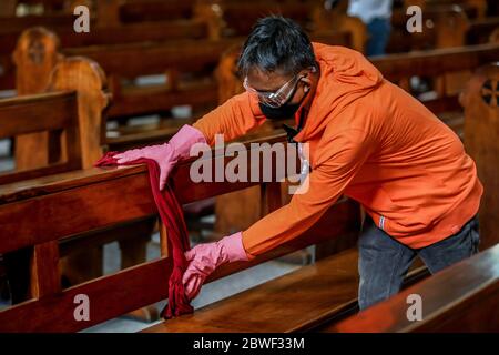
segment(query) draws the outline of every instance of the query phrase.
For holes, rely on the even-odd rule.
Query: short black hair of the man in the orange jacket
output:
[[[315,55],[305,31],[282,16],[259,19],[244,43],[237,63],[244,78],[252,69],[294,75],[315,67]]]

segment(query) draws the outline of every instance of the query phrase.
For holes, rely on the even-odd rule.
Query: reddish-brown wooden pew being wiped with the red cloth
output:
[[[480,100],[482,100],[481,97]],[[274,140],[267,139],[266,141],[279,142],[283,140],[284,136],[277,136]],[[252,185],[252,183],[192,184],[187,178],[189,166],[190,162],[182,163],[173,175],[173,186],[179,194],[180,201],[183,203]],[[39,255],[35,260],[39,262],[33,264],[32,281],[34,286],[38,290],[42,290],[42,292],[39,292],[38,296],[31,301],[0,312],[1,331],[78,331],[165,297],[167,294],[165,282],[167,272],[164,273],[164,271],[169,270],[167,267],[171,261],[166,256],[167,244],[165,243],[164,232],[166,231],[164,230],[162,233],[163,257],[161,260],[138,265],[63,291],[60,290],[60,285],[58,286],[59,283],[57,282],[58,270],[54,261],[58,260],[58,241],[62,242],[67,240],[67,236],[84,233],[89,229],[104,229],[115,223],[133,221],[155,213],[154,204],[149,193],[150,186],[144,166],[110,170],[92,169],[77,173],[48,176],[38,182],[32,182],[30,185],[31,187],[27,187],[26,184],[11,184],[0,187],[0,195],[2,196],[0,200],[2,202],[0,205],[0,221],[2,225],[6,225],[4,233],[7,235],[0,242],[0,253],[34,245],[34,253]],[[281,189],[277,190],[281,186],[275,183],[264,185],[265,187],[263,190],[265,201],[267,202],[267,211],[272,211],[281,205]],[[125,209],[123,209],[123,202],[120,200],[123,195],[130,196],[125,202]],[[141,196],[141,199],[134,199],[133,196]],[[277,199],[276,196],[279,197]],[[84,203],[82,203],[83,201]],[[63,202],[67,204],[64,205]],[[68,215],[64,216],[62,213],[62,209],[64,209],[64,213],[75,211],[68,209],[68,205],[79,206],[78,214],[70,214],[72,223],[63,223],[62,221],[68,217]],[[51,221],[51,224],[45,223],[42,229],[42,224],[37,223],[37,221],[47,221],[43,211],[53,211],[54,219]],[[57,213],[58,211],[61,213]],[[115,211],[119,211],[119,213]],[[27,215],[30,215],[29,220],[23,219]],[[332,226],[335,229],[332,229]],[[282,245],[265,255],[258,256],[252,263],[226,265],[217,271],[210,281],[302,248],[309,245],[309,243],[328,241],[334,235],[349,234],[347,239],[352,242],[352,236],[358,232],[358,207],[352,201],[342,200],[326,213],[319,223],[299,239],[293,240],[286,245]],[[9,237],[9,235],[12,235],[12,237]],[[333,257],[338,258],[336,261],[327,258],[327,264],[323,264],[326,261],[324,260],[320,264],[312,268],[301,270],[302,276],[293,275],[292,277],[289,275],[288,278],[279,278],[259,286],[258,291],[253,294],[248,292],[234,296],[240,297],[237,298],[240,301],[251,301],[253,305],[249,308],[253,313],[248,315],[251,322],[244,329],[241,325],[236,326],[236,324],[243,322],[241,317],[234,318],[234,298],[231,297],[225,300],[225,302],[218,303],[216,306],[210,306],[211,308],[208,311],[200,310],[194,315],[167,321],[161,326],[155,326],[152,331],[170,329],[175,332],[176,329],[185,329],[186,325],[182,320],[187,322],[187,317],[192,324],[198,324],[203,331],[227,329],[230,326],[224,325],[220,320],[228,320],[231,328],[234,329],[264,331],[264,325],[256,321],[255,307],[265,300],[275,300],[276,302],[267,303],[266,307],[264,305],[258,307],[261,317],[265,318],[268,324],[276,324],[277,318],[284,316],[287,320],[296,318],[296,322],[289,323],[289,327],[284,331],[291,332],[314,328],[328,320],[338,320],[342,315],[349,314],[347,312],[348,310],[350,312],[353,308],[355,310],[355,298],[348,301],[347,295],[352,295],[352,290],[355,290],[354,285],[355,287],[357,286],[354,274],[356,266],[352,262],[352,258],[355,256],[349,252]],[[49,263],[47,260],[51,260],[52,262]],[[342,268],[342,265],[345,264],[349,265],[348,270]],[[43,265],[43,274],[40,273],[41,265]],[[335,270],[338,273],[332,275],[327,266],[336,267]],[[320,278],[324,282],[323,274],[317,273],[319,270],[329,273],[332,277],[340,274],[338,278],[335,278],[337,282],[335,285],[338,285],[338,288],[344,287],[342,290],[345,290],[345,294],[336,294],[337,298],[335,300],[337,303],[332,302],[327,306],[320,306],[325,302],[325,298],[320,296],[329,296],[332,294],[328,293],[329,291],[317,291],[317,280]],[[315,281],[308,280],[307,275],[312,275],[310,277],[317,276],[318,278]],[[161,283],[161,280],[164,280],[164,282]],[[285,285],[294,286],[292,290],[296,292],[298,282],[309,286],[308,294],[316,296],[308,298],[310,308],[296,307],[294,308],[294,312],[296,312],[294,314],[292,311],[283,313],[269,312],[269,308],[278,308],[276,305],[282,305],[283,302],[283,298],[275,296],[274,292],[284,292],[284,288],[286,288],[284,287]],[[329,282],[334,283],[335,281],[330,280]],[[120,287],[122,288],[120,290]],[[123,288],[132,291],[126,293],[122,291]],[[141,290],[141,293],[133,292],[133,290]],[[310,291],[315,291],[315,293]],[[89,295],[93,304],[91,307],[91,321],[84,324],[73,318],[73,298],[77,294],[81,293]],[[54,308],[54,304],[57,304],[57,308]],[[310,317],[308,320],[303,317],[304,314],[308,314],[308,310],[314,308],[319,311],[310,311]],[[232,317],[226,318],[231,312]],[[266,316],[266,314],[268,315]],[[23,322],[28,316],[30,317],[30,322]],[[211,316],[212,318],[210,318]],[[302,318],[298,318],[298,316],[302,316]],[[204,327],[207,324],[217,324],[217,326]]]

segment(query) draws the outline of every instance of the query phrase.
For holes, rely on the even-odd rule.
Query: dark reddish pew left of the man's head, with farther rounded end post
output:
[[[108,114],[111,116],[123,114],[144,114],[169,110],[181,103],[193,105],[216,104],[216,85],[212,81],[201,83],[201,87],[193,89],[179,88],[174,77],[179,70],[198,70],[205,65],[216,64],[220,53],[231,42],[182,42],[185,51],[179,53],[175,44],[129,44],[116,47],[91,47],[82,49],[67,50],[64,55],[59,52],[58,38],[50,31],[34,28],[26,31],[19,39],[14,60],[17,62],[17,87],[19,94],[41,92],[47,85],[52,68],[64,57],[93,57],[101,67],[104,68],[111,78],[111,89],[113,90],[113,105]],[[105,51],[104,51],[105,50]],[[103,52],[104,51],[104,52]],[[74,54],[74,55],[73,55]],[[147,58],[147,65],[143,65],[141,58]],[[121,89],[123,77],[134,78],[141,74],[165,72],[170,69],[167,85],[145,88],[134,90],[133,88]],[[192,84],[191,84],[192,87]],[[125,91],[125,92],[123,92]],[[95,125],[96,122],[85,124]],[[105,121],[102,121],[105,124]],[[100,125],[99,125],[100,129]],[[102,132],[105,134],[105,131]],[[104,144],[104,136],[92,135],[93,139],[101,140]],[[17,159],[20,166],[32,168],[48,163],[47,156],[34,156],[30,146],[40,146],[35,150],[40,155],[47,152],[47,142],[39,138],[23,138],[21,144],[17,144]],[[37,155],[39,155],[37,154]],[[99,154],[93,155],[95,158]],[[85,160],[85,166],[90,166],[94,161]]]

